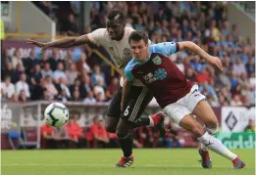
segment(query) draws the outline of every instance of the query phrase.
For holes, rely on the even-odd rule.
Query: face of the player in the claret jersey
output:
[[[130,48],[134,59],[137,62],[143,63],[149,57],[148,44],[146,44],[142,39],[140,41],[130,41]]]

